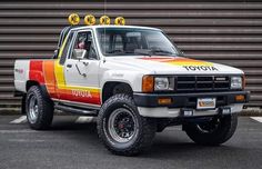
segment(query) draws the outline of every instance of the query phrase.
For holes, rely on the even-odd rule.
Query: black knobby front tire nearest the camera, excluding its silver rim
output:
[[[138,135],[128,143],[117,142],[110,137],[108,131],[108,120],[113,110],[119,108],[128,109],[138,120]],[[133,99],[129,95],[119,93],[109,98],[100,109],[98,116],[98,135],[105,148],[114,155],[134,156],[152,145],[157,131],[157,125],[153,119],[144,118],[139,115]]]

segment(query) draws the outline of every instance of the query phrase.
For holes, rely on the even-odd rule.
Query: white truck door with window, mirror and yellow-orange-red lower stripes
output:
[[[64,62],[66,88],[71,92],[70,101],[100,105],[99,63],[92,31],[80,31]]]

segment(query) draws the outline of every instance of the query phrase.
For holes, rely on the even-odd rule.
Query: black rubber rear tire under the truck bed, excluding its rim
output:
[[[34,96],[38,102],[39,115],[36,122],[29,120],[29,100],[30,97]],[[32,86],[27,93],[26,99],[26,111],[29,126],[34,130],[47,130],[52,123],[53,119],[53,102],[51,99],[47,98],[40,87]]]

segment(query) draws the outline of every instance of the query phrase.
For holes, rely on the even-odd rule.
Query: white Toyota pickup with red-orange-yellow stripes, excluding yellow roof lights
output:
[[[97,117],[102,143],[123,156],[169,126],[219,146],[250,96],[242,70],[183,57],[160,29],[112,24],[66,27],[52,59],[16,60],[14,86],[32,129],[48,129],[54,109]]]

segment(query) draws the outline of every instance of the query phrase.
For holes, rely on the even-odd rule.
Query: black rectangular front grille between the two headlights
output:
[[[229,76],[178,76],[177,92],[226,91],[230,89]]]

